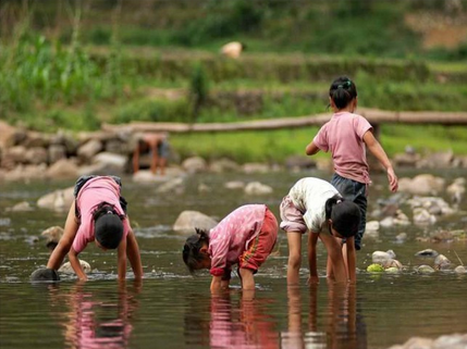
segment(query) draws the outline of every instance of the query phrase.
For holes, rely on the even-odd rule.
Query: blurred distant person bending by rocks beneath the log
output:
[[[151,157],[150,171],[152,174],[160,169],[160,174],[165,174],[167,158],[169,157],[169,140],[165,133],[137,134],[135,135],[135,148],[133,151],[133,173],[139,171],[139,155],[149,152]]]

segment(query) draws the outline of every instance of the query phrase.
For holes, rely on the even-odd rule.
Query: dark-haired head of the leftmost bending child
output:
[[[93,212],[94,235],[96,240],[107,249],[119,247],[123,237],[124,215],[120,215],[114,207],[108,202],[101,202]]]

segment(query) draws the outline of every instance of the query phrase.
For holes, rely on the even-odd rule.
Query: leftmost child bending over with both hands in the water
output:
[[[78,254],[87,244],[95,241],[103,251],[116,249],[119,279],[126,275],[126,258],[135,274],[143,277],[143,266],[136,237],[126,215],[126,201],[120,196],[121,180],[115,176],[82,176],[77,179],[74,196],[59,245],[47,263],[58,270],[67,253],[77,277],[86,281]]]

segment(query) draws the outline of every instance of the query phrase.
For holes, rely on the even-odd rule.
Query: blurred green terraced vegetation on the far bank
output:
[[[327,111],[339,75],[356,82],[360,107],[467,110],[467,42],[425,49],[404,22],[420,11],[446,14],[430,1],[79,4],[47,1],[22,12],[2,3],[0,17],[13,18],[0,26],[2,120],[54,132],[302,116]],[[246,43],[241,59],[218,53],[230,40]],[[274,162],[303,153],[315,133],[173,135],[172,142],[182,157]],[[390,154],[406,145],[467,149],[462,127],[383,126],[381,139]]]

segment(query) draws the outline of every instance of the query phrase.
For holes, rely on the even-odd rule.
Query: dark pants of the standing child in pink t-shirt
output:
[[[367,185],[353,179],[344,178],[334,173],[331,184],[344,197],[345,200],[355,202],[360,209],[361,219],[358,233],[355,235],[355,249],[361,249],[361,239],[367,224]]]

